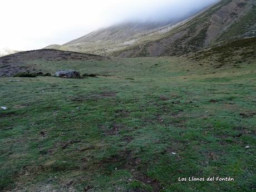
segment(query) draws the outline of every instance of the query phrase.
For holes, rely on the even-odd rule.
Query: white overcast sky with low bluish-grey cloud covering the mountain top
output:
[[[33,50],[63,44],[124,21],[185,16],[218,0],[1,0],[0,48]]]

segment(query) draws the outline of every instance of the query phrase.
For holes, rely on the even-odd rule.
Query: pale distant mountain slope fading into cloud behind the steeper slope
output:
[[[45,48],[54,48],[65,51],[111,55],[112,52],[124,50],[142,40],[166,33],[174,26],[195,17],[199,12],[193,11],[184,17],[167,19],[158,22],[125,22],[107,28],[93,31],[64,45],[50,45]]]

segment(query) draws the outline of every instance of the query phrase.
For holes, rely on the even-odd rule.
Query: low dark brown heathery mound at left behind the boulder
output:
[[[43,70],[40,65],[37,65],[36,61],[38,60],[58,62],[102,59],[106,59],[106,57],[51,49],[18,52],[0,57],[0,77],[13,76],[18,72],[48,72],[49,70]],[[29,65],[24,65],[24,63],[29,63]]]

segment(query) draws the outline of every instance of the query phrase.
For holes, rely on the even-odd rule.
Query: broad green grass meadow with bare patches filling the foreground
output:
[[[256,62],[23,65],[99,76],[0,78],[1,191],[255,190]]]

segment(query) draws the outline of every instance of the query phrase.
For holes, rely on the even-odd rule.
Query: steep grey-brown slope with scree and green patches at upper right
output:
[[[137,43],[113,55],[182,55],[216,43],[256,36],[255,4],[254,0],[222,0],[190,21],[156,37],[155,40]]]

